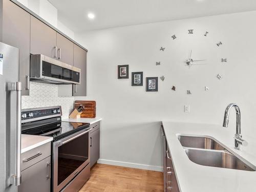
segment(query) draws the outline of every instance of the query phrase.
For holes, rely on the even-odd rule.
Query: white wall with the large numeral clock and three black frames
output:
[[[89,50],[88,97],[76,99],[97,101],[97,116],[103,118],[100,159],[158,169],[161,120],[222,124],[230,102],[241,107],[244,138],[255,138],[255,18],[256,12],[245,12],[76,34]],[[195,34],[189,35],[188,29]],[[218,47],[218,41],[223,46]],[[208,65],[185,66],[191,49],[194,59],[207,59]],[[221,63],[222,57],[228,62]],[[143,71],[143,87],[132,87],[131,77],[117,79],[117,65],[124,64],[130,65],[130,76]],[[221,80],[218,73],[223,74]],[[159,79],[159,91],[145,92],[145,77],[161,75],[165,80]],[[170,89],[173,85],[176,92]],[[190,113],[184,113],[184,104],[190,105]],[[232,114],[232,133],[234,122]]]

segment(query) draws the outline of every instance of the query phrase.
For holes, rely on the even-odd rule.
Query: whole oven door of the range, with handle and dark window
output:
[[[53,191],[65,187],[90,163],[90,130],[82,130],[53,142]]]

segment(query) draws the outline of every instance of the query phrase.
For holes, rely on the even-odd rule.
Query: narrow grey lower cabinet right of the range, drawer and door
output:
[[[99,159],[99,122],[91,125],[90,132],[90,165],[91,167],[98,161]]]

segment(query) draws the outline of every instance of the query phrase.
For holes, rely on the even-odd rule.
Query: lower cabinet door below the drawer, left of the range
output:
[[[51,156],[22,171],[18,192],[49,192],[51,186]]]

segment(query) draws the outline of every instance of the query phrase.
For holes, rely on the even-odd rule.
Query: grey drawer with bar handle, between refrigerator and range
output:
[[[22,170],[32,166],[33,164],[45,159],[51,155],[51,142],[33,148],[22,154]]]

